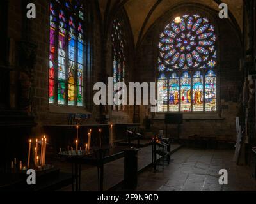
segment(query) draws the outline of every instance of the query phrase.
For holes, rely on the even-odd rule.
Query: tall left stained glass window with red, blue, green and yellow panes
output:
[[[55,0],[49,7],[49,103],[84,106],[83,4]]]

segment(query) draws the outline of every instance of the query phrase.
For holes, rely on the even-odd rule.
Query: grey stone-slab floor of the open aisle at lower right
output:
[[[138,177],[136,191],[256,191],[256,181],[246,166],[237,166],[230,150],[182,148],[172,155],[172,163],[149,169]],[[219,170],[228,171],[228,185],[218,183]]]

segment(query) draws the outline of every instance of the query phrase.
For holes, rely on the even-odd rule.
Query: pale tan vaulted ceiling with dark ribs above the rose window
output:
[[[183,3],[200,3],[219,11],[218,5],[226,3],[230,15],[234,17],[237,25],[243,27],[243,0],[98,0],[102,19],[109,17],[109,13],[116,13],[118,8],[124,6],[130,20],[134,43],[140,41],[149,27],[157,18],[161,17],[173,6]],[[105,19],[106,20],[106,19]]]

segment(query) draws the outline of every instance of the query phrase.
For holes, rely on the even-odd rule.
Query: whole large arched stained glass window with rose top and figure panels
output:
[[[214,25],[200,15],[184,15],[164,27],[157,60],[159,112],[216,112],[216,40]]]

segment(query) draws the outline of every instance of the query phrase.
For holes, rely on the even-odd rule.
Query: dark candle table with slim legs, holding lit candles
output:
[[[72,177],[76,182],[76,191],[81,190],[81,165],[89,164],[97,166],[98,168],[98,189],[103,191],[103,180],[104,180],[104,164],[110,163],[124,157],[123,147],[104,147],[102,149],[94,149],[90,152],[61,152],[59,155],[67,159],[67,162],[72,164]],[[74,184],[72,185],[74,191]]]

